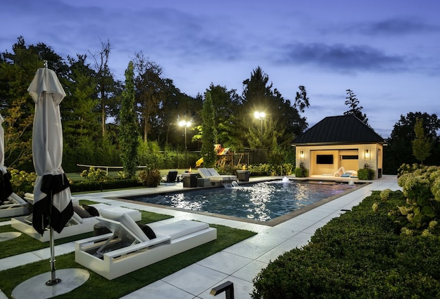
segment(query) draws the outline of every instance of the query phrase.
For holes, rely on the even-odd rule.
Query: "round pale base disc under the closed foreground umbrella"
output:
[[[56,270],[56,276],[60,277],[56,280],[60,281],[48,284],[48,279],[49,282],[52,282],[50,280],[51,274],[51,272],[46,272],[21,282],[12,291],[12,297],[17,299],[52,298],[80,287],[90,277],[89,271],[85,269],[61,269]]]

